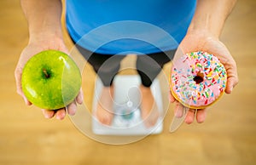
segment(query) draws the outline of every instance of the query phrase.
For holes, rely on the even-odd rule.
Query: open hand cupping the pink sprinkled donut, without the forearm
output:
[[[177,48],[177,52],[174,56],[173,61],[175,62],[175,60],[181,57],[181,55],[183,54],[195,51],[205,51],[218,57],[218,60],[220,60],[220,62],[224,65],[228,76],[225,93],[231,94],[233,88],[238,83],[236,61],[231,56],[230,51],[228,50],[228,48],[225,47],[224,43],[221,43],[217,37],[213,37],[206,31],[190,32],[183,38],[182,43],[180,43],[179,47]],[[176,103],[176,107],[174,110],[175,116],[182,117],[183,105],[175,100],[172,94],[170,94],[170,101],[172,103]],[[196,121],[201,123],[206,120],[206,116],[207,109],[198,110],[196,113],[194,109],[189,109],[188,115],[185,118],[185,122],[188,124],[192,123],[196,118]]]

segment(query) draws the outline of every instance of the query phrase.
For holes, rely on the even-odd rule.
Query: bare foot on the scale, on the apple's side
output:
[[[100,96],[96,117],[99,122],[105,125],[111,125],[113,120],[113,87],[103,87],[102,95]]]

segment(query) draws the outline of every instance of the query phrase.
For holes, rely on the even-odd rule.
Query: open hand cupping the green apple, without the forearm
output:
[[[26,105],[32,105],[32,103],[26,99],[26,96],[24,95],[22,88],[21,88],[21,75],[24,65],[26,64],[27,60],[29,60],[34,54],[38,54],[41,51],[48,50],[48,49],[55,49],[59,50],[61,52],[64,52],[68,54],[67,47],[65,43],[63,42],[62,38],[58,37],[38,37],[38,39],[31,39],[26,48],[23,49],[23,51],[20,54],[20,59],[16,65],[15,69],[15,81],[16,81],[16,88],[17,93],[20,94],[20,96],[25,100]],[[70,105],[67,105],[67,113],[69,115],[74,115],[77,109],[76,103],[82,104],[83,102],[83,94],[82,90],[80,89],[80,92],[76,99],[71,103]],[[61,120],[66,116],[66,110],[65,108],[61,108],[59,110],[42,110],[44,117],[46,118],[52,118],[56,117],[57,119]]]

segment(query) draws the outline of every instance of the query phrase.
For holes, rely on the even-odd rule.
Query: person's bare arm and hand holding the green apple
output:
[[[68,54],[67,47],[63,41],[61,31],[61,0],[20,0],[21,7],[26,15],[29,27],[29,43],[20,54],[20,59],[15,69],[15,80],[17,93],[25,100],[26,105],[32,103],[26,99],[21,88],[21,74],[26,61],[34,54],[43,50],[55,49]],[[69,115],[74,115],[77,109],[76,102],[82,104],[82,90],[76,100],[67,106]],[[58,111],[42,110],[44,117],[63,119],[66,116],[65,108]]]

